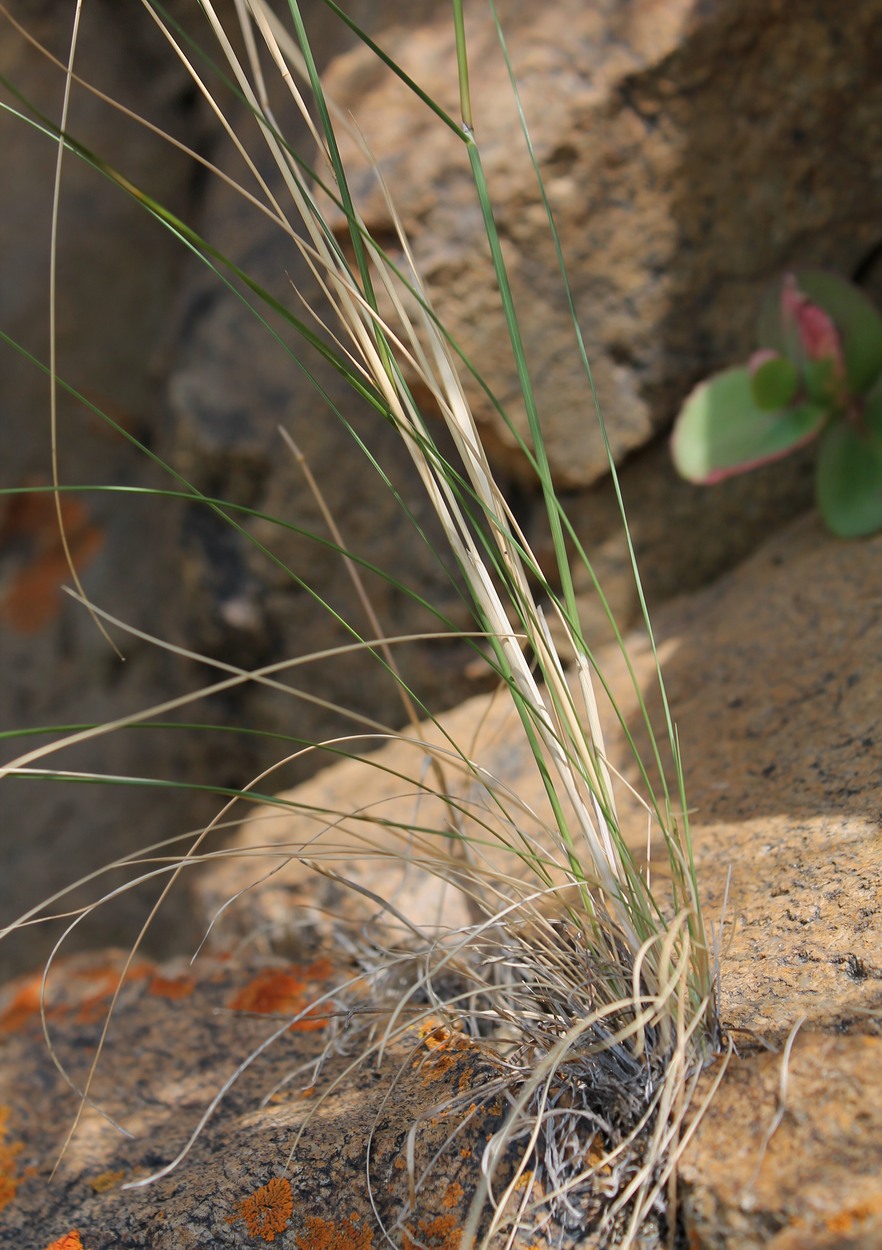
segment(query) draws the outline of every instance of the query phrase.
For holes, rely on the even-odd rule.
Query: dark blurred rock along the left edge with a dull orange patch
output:
[[[41,2],[10,6],[25,29],[66,58],[72,10]],[[35,109],[59,116],[62,76],[34,46],[2,21],[4,75]],[[149,15],[137,6],[125,16],[116,5],[84,6],[77,70],[112,99],[199,145],[202,119],[191,92]],[[24,108],[4,88],[4,101]],[[26,111],[26,110],[25,110]],[[159,200],[190,215],[199,200],[187,159],[142,126],[74,89],[70,128],[91,150],[116,164]],[[49,240],[55,145],[5,111],[0,114],[4,176],[10,194],[0,211],[0,324],[4,332],[47,362]],[[147,459],[126,441],[156,444],[161,429],[162,360],[170,311],[181,279],[180,246],[119,189],[72,154],[64,165],[59,224],[57,370],[116,422],[109,428],[64,392],[59,399],[59,475],[65,485],[110,488],[165,485]],[[10,348],[2,351],[4,440],[0,485],[9,490],[51,481],[49,384]],[[86,592],[135,626],[181,640],[179,584],[174,558],[177,509],[95,491],[61,498],[71,555]],[[151,515],[152,514],[152,515]],[[0,500],[0,728],[80,725],[149,708],[181,689],[167,655],[132,639],[119,639],[120,664],[84,610],[61,592],[71,584],[50,495]],[[157,614],[157,605],[162,614]],[[209,714],[210,715],[210,714]],[[137,739],[137,741],[136,741]],[[35,745],[4,742],[2,762]],[[40,739],[40,741],[45,741]],[[116,735],[96,748],[59,752],[44,766],[82,772],[171,776],[179,768],[200,771],[204,749],[192,739],[161,734]],[[179,774],[180,775],[180,774]],[[150,840],[169,821],[181,829],[207,819],[205,799],[182,802],[154,790],[132,809],[131,795],[105,786],[4,781],[0,830],[0,924],[86,874]],[[156,822],[155,825],[152,822]],[[146,836],[145,836],[146,835]],[[80,895],[82,899],[82,895]],[[111,905],[104,940],[125,924],[125,908]],[[185,924],[185,918],[181,918]],[[76,940],[77,934],[74,935]],[[92,940],[96,934],[92,935]],[[100,938],[97,940],[101,940]],[[34,930],[5,941],[4,975],[30,968],[39,946]]]

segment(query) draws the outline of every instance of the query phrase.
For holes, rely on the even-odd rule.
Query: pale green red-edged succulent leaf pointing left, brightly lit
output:
[[[720,481],[808,442],[827,415],[817,404],[763,411],[753,400],[750,370],[727,369],[686,400],[673,426],[673,462],[690,481]]]

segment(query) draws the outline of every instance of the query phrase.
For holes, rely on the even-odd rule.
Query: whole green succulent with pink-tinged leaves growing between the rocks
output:
[[[882,318],[851,282],[786,274],[747,365],[697,386],[673,428],[677,471],[712,484],[818,440],[816,494],[841,538],[882,528]]]

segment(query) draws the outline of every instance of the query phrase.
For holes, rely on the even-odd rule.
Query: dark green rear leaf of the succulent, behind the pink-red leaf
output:
[[[882,376],[882,316],[852,282],[823,269],[797,269],[800,290],[833,320],[842,339],[846,381],[852,395],[865,395]],[[760,314],[761,348],[792,354],[792,330],[785,325],[778,279],[763,300]]]

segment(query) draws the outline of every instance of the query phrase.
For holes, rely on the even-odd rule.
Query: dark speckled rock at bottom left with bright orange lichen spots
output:
[[[50,978],[47,1028],[66,1080],[41,1036],[40,979],[0,999],[4,1244],[370,1250],[381,1228],[410,1248],[460,1244],[483,1150],[503,1119],[503,1069],[431,1008],[355,1064],[371,1038],[336,1019],[335,990],[352,980],[340,960],[136,960],[90,1104],[59,1156],[121,966],[114,952],[71,956]],[[374,1020],[366,989],[362,1012]]]

